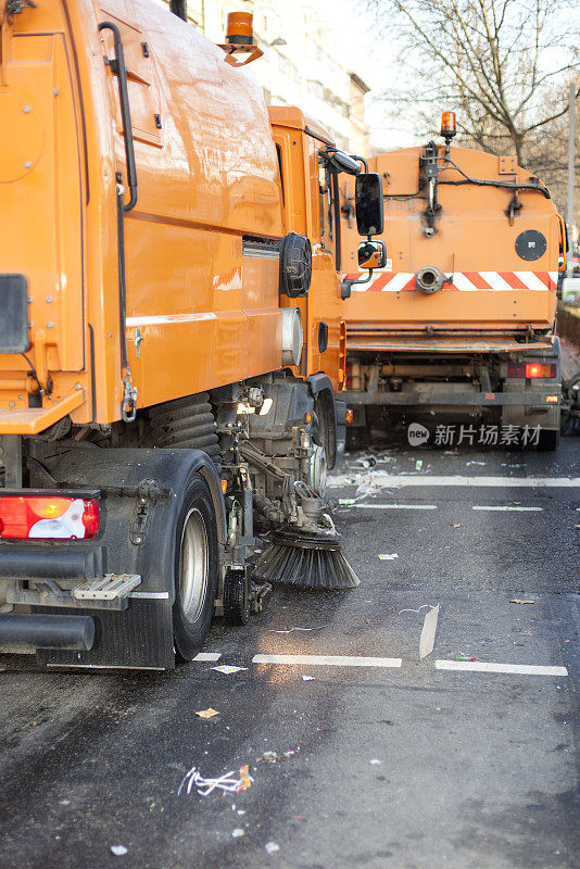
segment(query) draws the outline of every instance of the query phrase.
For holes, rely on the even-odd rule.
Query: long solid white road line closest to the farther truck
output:
[[[328,486],[355,486],[352,481],[352,474],[337,474],[330,477]],[[418,476],[396,476],[394,474],[381,475],[380,471],[373,471],[373,486],[377,489],[396,488],[402,486],[470,486],[470,487],[493,487],[502,489],[525,488],[525,489],[575,489],[580,487],[580,477],[461,477],[450,475],[449,477],[431,477],[427,474]]]

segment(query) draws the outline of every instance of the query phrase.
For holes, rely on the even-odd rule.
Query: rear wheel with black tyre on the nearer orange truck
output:
[[[217,588],[217,528],[206,483],[196,476],[186,489],[175,546],[175,648],[196,657],[212,624]]]

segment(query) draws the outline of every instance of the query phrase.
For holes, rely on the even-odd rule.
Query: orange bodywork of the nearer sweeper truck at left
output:
[[[317,248],[308,173],[319,143],[304,124],[292,126],[299,113],[273,112],[276,137],[288,139],[283,160],[293,162],[282,201],[251,76],[146,0],[63,0],[2,28],[0,106],[11,136],[0,161],[0,210],[10,215],[0,259],[4,273],[27,278],[29,362],[0,355],[0,433],[35,434],[66,415],[77,425],[121,416],[115,184],[125,154],[116,76],[104,63],[111,35],[97,32],[105,20],[123,38],[138,173],[138,203],[125,219],[137,407],[282,367],[279,264],[251,240],[281,240],[290,224],[314,232],[315,301],[298,305],[300,373],[324,370],[337,390],[340,285]],[[323,314],[325,356],[316,344]],[[50,378],[50,392],[38,394],[30,365],[45,387]]]

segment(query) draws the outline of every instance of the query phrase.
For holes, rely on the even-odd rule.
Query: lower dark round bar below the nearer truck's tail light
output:
[[[11,613],[0,616],[0,652],[64,648],[89,652],[94,643],[91,616]]]

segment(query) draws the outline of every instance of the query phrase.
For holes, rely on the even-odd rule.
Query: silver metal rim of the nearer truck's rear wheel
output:
[[[194,625],[207,590],[207,532],[203,516],[193,507],[187,514],[181,534],[179,592],[181,610],[188,625]]]

